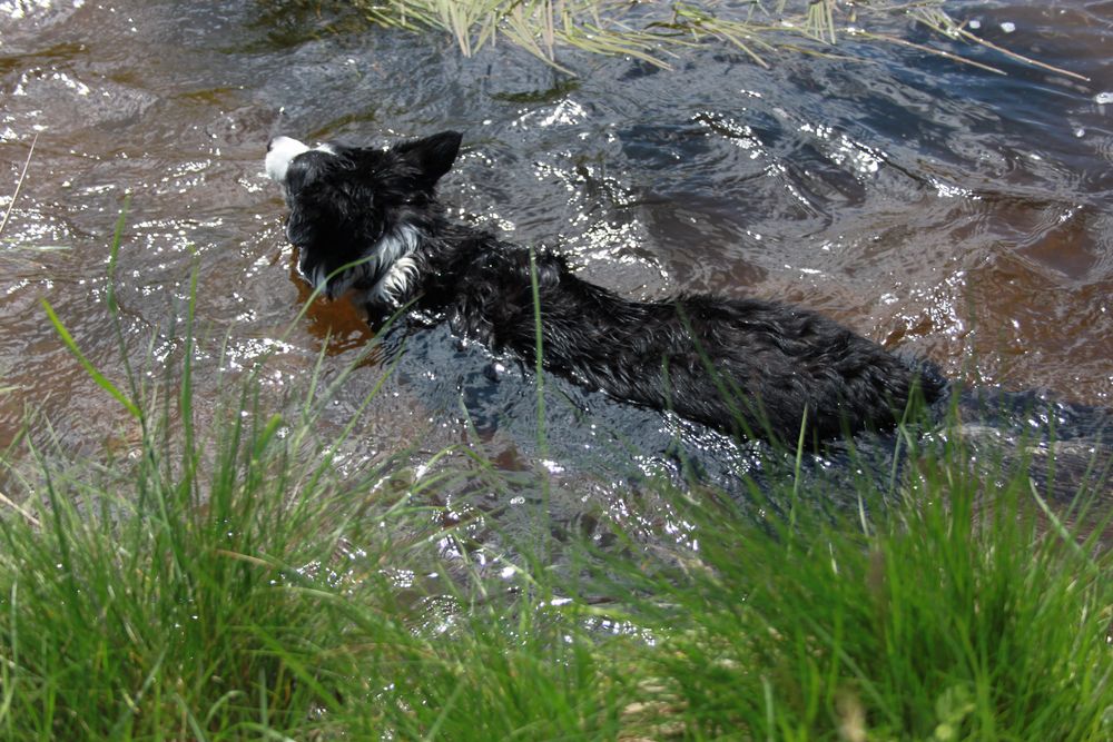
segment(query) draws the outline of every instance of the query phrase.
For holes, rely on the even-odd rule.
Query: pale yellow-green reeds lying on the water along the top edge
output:
[[[943,0],[913,2],[840,2],[839,0],[719,0],[706,2],[634,2],[631,0],[268,0],[289,7],[329,8],[353,20],[408,31],[449,33],[467,57],[500,41],[515,44],[556,69],[571,72],[560,51],[628,56],[669,67],[683,47],[706,41],[743,52],[769,67],[781,52],[855,57],[839,41],[895,43],[1001,73],[985,60],[956,53],[948,44],[916,43],[895,30],[908,19],[938,38],[986,47],[1028,65],[1078,78],[1034,59],[1002,49],[973,33],[945,10]]]

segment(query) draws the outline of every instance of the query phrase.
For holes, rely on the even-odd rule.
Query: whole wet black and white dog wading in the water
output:
[[[305,279],[329,298],[354,291],[372,315],[408,305],[445,316],[455,333],[526,360],[536,298],[546,369],[733,434],[795,443],[806,422],[809,438],[834,438],[892,426],[917,387],[927,402],[939,395],[937,380],[807,309],[706,295],[631,301],[560,255],[451,221],[434,187],[460,140],[445,131],[384,150],[273,139],[266,169]]]

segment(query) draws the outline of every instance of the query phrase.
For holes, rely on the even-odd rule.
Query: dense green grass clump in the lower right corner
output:
[[[959,454],[866,533],[693,505],[699,560],[615,582],[662,606],[633,609],[661,639],[654,702],[705,739],[1109,739],[1109,558],[1038,536],[1022,475],[987,514]]]

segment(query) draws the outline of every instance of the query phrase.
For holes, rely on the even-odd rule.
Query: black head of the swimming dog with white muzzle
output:
[[[302,276],[329,298],[355,288],[380,308],[406,300],[417,273],[412,254],[436,212],[433,189],[460,140],[444,131],[372,149],[272,139],[267,175],[286,197],[286,237]]]

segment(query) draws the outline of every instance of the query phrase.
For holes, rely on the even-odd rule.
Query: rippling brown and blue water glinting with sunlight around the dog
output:
[[[128,353],[179,359],[174,321],[196,266],[203,423],[254,359],[273,355],[279,399],[323,344],[326,376],[356,357],[370,335],[349,307],[317,304],[286,334],[306,291],[263,175],[278,132],[383,142],[460,129],[443,199],[521,243],[560,246],[627,296],[799,303],[972,385],[1113,406],[1113,2],[951,8],[1089,82],[987,50],[953,48],[1007,77],[850,41],[864,61],[786,55],[768,71],[716,47],[671,71],[570,53],[572,79],[506,44],[464,59],[433,36],[311,38],[319,19],[274,7],[0,1],[3,210],[37,137],[0,236],[0,445],[28,407],[76,448],[127,445],[122,414],[39,301],[122,378],[106,275],[128,194],[117,268]],[[929,40],[900,19],[894,31]],[[529,373],[444,329],[388,337],[329,424],[347,422],[403,342],[349,462],[413,446],[421,464],[460,442],[508,471],[541,461],[561,485],[558,521],[610,508],[621,482],[595,481],[593,462],[680,466],[678,427],[696,465],[745,465],[716,435],[555,379],[542,453]]]

